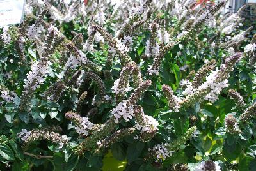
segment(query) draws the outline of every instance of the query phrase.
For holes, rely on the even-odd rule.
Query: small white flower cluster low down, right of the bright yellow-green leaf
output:
[[[157,159],[165,160],[166,158],[172,156],[172,153],[174,152],[174,151],[168,151],[167,149],[168,146],[169,144],[167,143],[157,144],[152,149],[149,149],[149,151],[154,152]]]

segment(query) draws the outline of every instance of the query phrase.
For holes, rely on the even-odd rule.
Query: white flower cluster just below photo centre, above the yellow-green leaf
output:
[[[115,117],[115,122],[118,123],[119,119],[124,118],[125,121],[129,121],[132,119],[133,113],[133,106],[127,106],[128,100],[123,100],[120,102],[116,108],[111,110],[111,114]]]

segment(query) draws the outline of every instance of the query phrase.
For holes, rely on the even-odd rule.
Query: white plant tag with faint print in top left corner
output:
[[[24,5],[25,0],[0,0],[0,26],[22,22]]]

